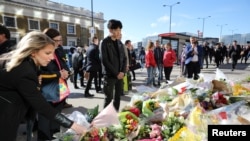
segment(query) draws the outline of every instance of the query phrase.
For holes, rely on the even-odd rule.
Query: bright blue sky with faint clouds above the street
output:
[[[91,0],[50,1],[91,10]],[[123,41],[132,42],[168,33],[170,7],[171,32],[197,34],[204,29],[204,37],[217,38],[250,33],[250,0],[93,0],[93,11],[104,13],[106,21],[120,20]],[[107,22],[104,27],[107,36]]]

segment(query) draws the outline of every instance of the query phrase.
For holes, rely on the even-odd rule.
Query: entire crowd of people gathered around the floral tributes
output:
[[[121,40],[122,27],[121,21],[109,20],[109,36],[101,42],[93,37],[88,47],[71,48],[67,56],[60,32],[56,29],[29,32],[13,48],[9,30],[0,25],[0,126],[7,127],[0,128],[0,138],[14,141],[23,121],[27,122],[27,140],[31,138],[34,124],[37,125],[39,141],[52,140],[60,126],[72,128],[77,134],[86,132],[87,127],[61,114],[63,108],[72,107],[67,103],[67,97],[51,101],[43,96],[43,87],[55,81],[59,83],[59,79],[67,83],[72,78],[75,89],[85,87],[85,97],[94,97],[90,93],[94,80],[96,92],[105,95],[103,107],[113,101],[119,111],[124,77],[132,73],[132,80],[136,80],[138,62],[140,68],[147,71],[145,85],[159,87],[164,79],[166,83],[170,81],[174,64],[178,61],[180,75],[196,80],[203,66],[208,68],[213,61],[219,68],[225,60],[229,63],[231,59],[234,71],[239,60],[247,63],[250,54],[250,45],[240,46],[237,41],[228,47],[221,42],[211,46],[208,42],[200,45],[195,37],[190,37],[190,44],[183,44],[180,55],[172,48],[171,42],[161,45],[159,40],[148,41],[145,49],[142,47],[139,51],[137,60],[131,40],[125,43]]]

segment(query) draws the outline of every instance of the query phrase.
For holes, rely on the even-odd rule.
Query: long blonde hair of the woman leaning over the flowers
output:
[[[11,71],[34,51],[39,51],[49,44],[55,46],[55,42],[44,33],[40,31],[27,33],[17,44],[16,49],[10,52],[10,61],[6,63],[6,71]]]

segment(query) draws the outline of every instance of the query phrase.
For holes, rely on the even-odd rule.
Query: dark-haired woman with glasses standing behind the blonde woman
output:
[[[55,52],[54,52],[54,60],[52,60],[47,66],[42,66],[40,68],[40,76],[42,79],[41,87],[45,85],[53,85],[53,81],[57,81],[59,84],[59,78],[67,80],[69,77],[69,71],[64,65],[63,54],[61,51],[61,43],[62,43],[62,36],[60,35],[59,31],[53,28],[46,28],[43,31],[48,37],[50,37],[55,42]],[[42,89],[42,88],[41,88]],[[59,91],[59,90],[58,90]],[[53,94],[53,93],[52,93]],[[58,102],[51,102],[48,103],[57,109],[59,112],[62,111],[66,103],[66,98],[62,101]],[[72,107],[72,105],[69,105]],[[69,107],[67,106],[67,107]],[[48,120],[44,115],[38,114],[38,130],[37,130],[37,138],[38,140],[51,140],[53,139],[53,134],[60,131],[60,126]]]

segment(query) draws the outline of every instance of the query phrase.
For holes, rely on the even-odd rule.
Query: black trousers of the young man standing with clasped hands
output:
[[[123,92],[123,79],[104,76],[103,84],[103,91],[105,94],[104,108],[113,100],[115,109],[119,111],[121,100],[120,96]]]

